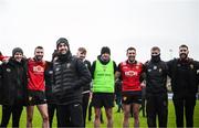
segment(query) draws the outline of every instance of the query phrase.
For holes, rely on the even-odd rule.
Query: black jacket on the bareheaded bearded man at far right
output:
[[[188,58],[181,61],[174,58],[167,62],[169,76],[171,78],[171,88],[175,94],[196,95],[199,84],[199,62]]]

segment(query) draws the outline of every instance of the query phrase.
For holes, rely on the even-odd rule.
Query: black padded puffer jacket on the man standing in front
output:
[[[57,105],[82,103],[82,86],[91,83],[87,67],[77,57],[59,55],[53,62],[53,87]]]

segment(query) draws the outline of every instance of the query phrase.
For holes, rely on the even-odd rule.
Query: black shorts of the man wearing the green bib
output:
[[[114,94],[113,93],[93,93],[92,104],[96,108],[114,107]]]

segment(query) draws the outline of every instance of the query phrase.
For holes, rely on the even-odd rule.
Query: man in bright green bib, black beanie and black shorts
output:
[[[92,64],[93,77],[93,106],[95,108],[94,127],[101,125],[101,108],[104,106],[107,127],[113,128],[112,108],[114,107],[114,85],[116,63],[111,60],[111,50],[107,46],[102,47],[101,55]]]

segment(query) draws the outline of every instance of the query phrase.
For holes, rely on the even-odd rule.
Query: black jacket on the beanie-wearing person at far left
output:
[[[14,104],[27,105],[27,62],[21,63],[11,57],[8,63],[0,66],[1,76],[1,104],[12,106]]]

